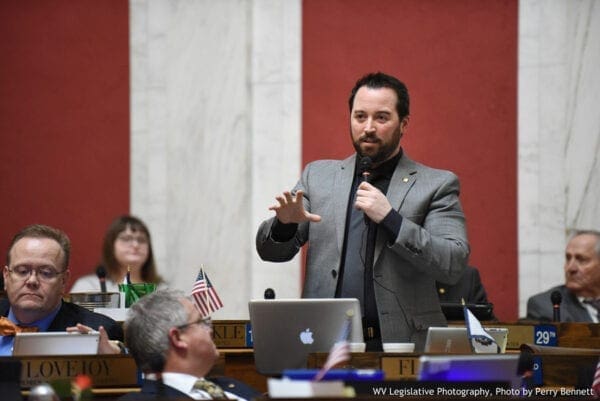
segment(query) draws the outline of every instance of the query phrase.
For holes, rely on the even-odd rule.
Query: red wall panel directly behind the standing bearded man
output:
[[[502,320],[518,317],[517,27],[514,0],[303,1],[303,164],[353,152],[358,77],[404,81],[404,149],[458,174],[470,263]]]

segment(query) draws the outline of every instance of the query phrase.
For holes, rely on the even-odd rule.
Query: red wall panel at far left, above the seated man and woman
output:
[[[0,252],[43,223],[92,272],[129,210],[127,0],[0,2]]]

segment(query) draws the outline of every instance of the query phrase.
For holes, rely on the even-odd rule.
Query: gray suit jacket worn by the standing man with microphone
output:
[[[310,163],[295,190],[304,206],[322,217],[302,223],[296,236],[275,242],[275,218],[259,227],[256,247],[264,260],[290,260],[310,237],[302,296],[335,295],[344,243],[346,211],[356,155],[345,160]],[[412,161],[404,154],[390,182],[387,198],[402,215],[397,238],[378,230],[373,266],[382,340],[412,341],[422,348],[429,326],[445,326],[435,281],[456,282],[466,268],[469,245],[458,199],[457,177]]]

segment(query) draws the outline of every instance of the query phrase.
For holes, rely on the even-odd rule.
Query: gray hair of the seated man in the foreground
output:
[[[142,372],[162,372],[169,351],[169,330],[187,324],[182,291],[158,290],[131,305],[125,320],[125,344]]]

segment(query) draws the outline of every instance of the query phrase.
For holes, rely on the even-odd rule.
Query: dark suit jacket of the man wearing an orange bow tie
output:
[[[0,316],[7,316],[10,304],[8,299],[0,300]],[[123,329],[121,325],[108,316],[94,313],[82,306],[71,302],[62,302],[58,314],[50,323],[48,331],[64,331],[67,327],[75,326],[77,323],[84,324],[95,330],[104,326],[111,340],[123,341]]]

